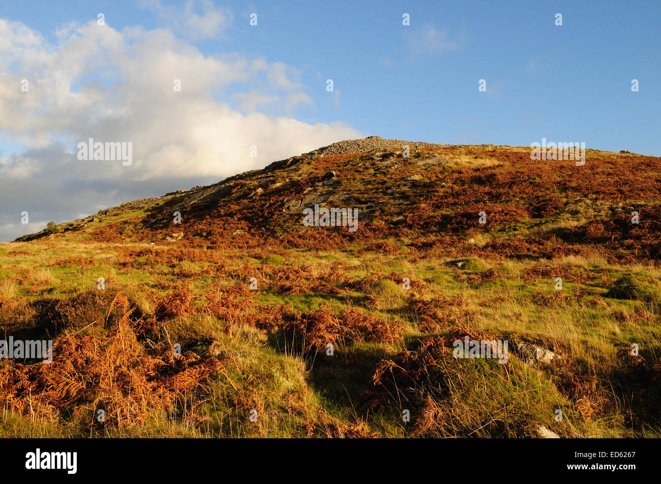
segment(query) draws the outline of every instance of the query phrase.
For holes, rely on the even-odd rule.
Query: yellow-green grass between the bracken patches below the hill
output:
[[[535,294],[550,298],[556,291],[552,279],[533,283],[524,281],[522,272],[532,267],[534,261],[467,258],[467,262],[456,269],[448,264],[450,259],[447,258],[411,262],[401,254],[384,256],[369,252],[357,258],[360,246],[351,249],[327,251],[323,257],[288,250],[286,256],[269,254],[261,262],[239,256],[241,252],[238,250],[235,254],[231,251],[227,254],[230,258],[235,257],[234,269],[249,265],[251,273],[263,281],[257,293],[260,304],[277,306],[291,302],[294,310],[299,312],[315,310],[329,300],[337,312],[347,304],[353,304],[378,318],[403,321],[407,328],[403,335],[414,340],[407,339],[394,345],[359,341],[336,349],[332,359],[323,353],[303,357],[291,347],[284,347],[281,340],[248,326],[228,333],[225,322],[210,316],[179,318],[167,326],[170,341],[178,341],[184,348],[203,348],[208,342],[217,341],[223,355],[232,362],[224,374],[214,376],[208,383],[208,396],[198,408],[205,418],[194,423],[182,415],[155,413],[153,419],[137,429],[108,429],[106,434],[307,436],[309,426],[314,425],[313,435],[327,436],[338,432],[336,425],[340,422],[342,425],[364,423],[369,431],[380,436],[411,435],[422,411],[420,402],[407,404],[411,407],[412,420],[404,423],[399,403],[369,410],[364,406],[364,392],[373,388],[371,376],[379,361],[408,349],[411,341],[424,336],[417,329],[414,318],[406,312],[408,298],[415,295],[426,299],[463,297],[467,306],[459,310],[455,323],[467,324],[472,330],[485,331],[496,337],[543,343],[553,348],[564,361],[572,361],[572,372],[599,374],[598,390],[611,399],[609,407],[598,418],[586,419],[580,415],[576,401],[559,391],[552,367],[531,368],[512,357],[510,374],[507,375],[493,362],[459,361],[444,379],[447,390],[443,394],[434,394],[430,383],[428,395],[435,399],[447,418],[442,425],[428,429],[426,435],[524,436],[533,434],[535,426],[545,425],[561,436],[658,436],[658,423],[654,421],[646,421],[645,425],[635,429],[626,421],[627,393],[621,392],[617,380],[613,380],[624,378],[617,376],[619,366],[615,350],[619,343],[639,344],[642,357],[648,361],[658,360],[661,353],[657,331],[659,313],[655,306],[650,306],[650,302],[658,301],[658,286],[650,282],[658,281],[656,269],[641,267],[631,271],[598,259],[547,261],[586,267],[594,280],[581,284],[565,282],[562,291],[565,300],[539,304],[533,299]],[[54,260],[73,256],[93,258],[97,265],[52,267]],[[157,287],[160,279],[173,283],[191,281],[197,294],[232,283],[229,277],[214,273],[213,263],[184,260],[172,265],[151,264],[143,257],[120,267],[116,260],[112,244],[69,242],[64,252],[62,248],[54,248],[42,241],[2,246],[0,293],[14,293],[17,299],[24,301],[37,300],[44,295],[65,298],[94,288],[97,277],[104,277],[112,281],[111,288],[130,291],[132,304],[141,308],[141,313],[151,314],[154,310],[152,296],[163,296],[163,291]],[[286,296],[270,285],[268,271],[292,263],[314,267],[322,278],[323,271],[333,264],[345,264],[346,276],[352,281],[377,276],[365,291]],[[490,268],[498,274],[496,279],[485,283],[468,281],[469,275]],[[602,269],[615,281],[612,287],[603,287]],[[17,277],[19,274],[22,277]],[[422,281],[422,287],[415,294],[405,291],[401,285],[388,279],[390,274],[414,276]],[[37,281],[41,282],[36,285]],[[247,284],[248,281],[237,279],[235,282]],[[40,291],[31,291],[35,287]],[[144,289],[136,291],[141,287]],[[50,289],[52,292],[48,293]],[[573,298],[576,289],[586,294]],[[368,296],[377,298],[377,303],[366,305]],[[602,298],[603,303],[593,302],[590,299],[593,296]],[[633,317],[635,310],[644,310],[644,313],[639,312],[639,316]],[[155,342],[156,347],[162,347],[165,337],[165,334],[161,335],[161,340]],[[257,423],[249,419],[251,405],[258,407]],[[563,409],[563,423],[553,419],[557,408]],[[81,436],[83,432],[70,428],[66,421],[43,423],[10,416],[3,420],[1,434],[60,437]]]

